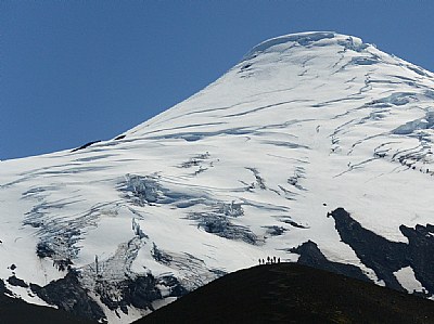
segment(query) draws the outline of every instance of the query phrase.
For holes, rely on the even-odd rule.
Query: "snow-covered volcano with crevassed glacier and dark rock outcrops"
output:
[[[267,40],[114,140],[0,163],[10,295],[110,323],[268,256],[434,294],[434,75]]]

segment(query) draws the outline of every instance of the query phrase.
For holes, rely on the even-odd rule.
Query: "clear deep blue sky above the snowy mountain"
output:
[[[433,17],[431,0],[0,0],[0,159],[120,134],[279,35],[355,35],[434,70]]]

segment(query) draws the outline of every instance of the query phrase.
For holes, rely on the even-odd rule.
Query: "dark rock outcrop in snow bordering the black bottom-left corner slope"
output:
[[[47,286],[40,287],[30,284],[30,288],[49,304],[55,304],[60,309],[80,317],[105,321],[104,312],[80,286],[77,274],[73,271],[68,272],[64,278],[53,281]]]

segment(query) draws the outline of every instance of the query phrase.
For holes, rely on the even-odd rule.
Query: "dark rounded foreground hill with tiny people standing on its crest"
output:
[[[135,322],[434,323],[434,302],[296,263],[258,265]]]

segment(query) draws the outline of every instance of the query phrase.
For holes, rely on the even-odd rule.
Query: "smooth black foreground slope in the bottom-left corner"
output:
[[[72,313],[54,308],[36,306],[22,299],[11,298],[4,294],[12,294],[0,281],[0,323],[8,324],[91,324],[97,323]]]

